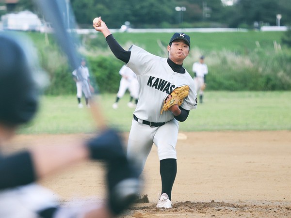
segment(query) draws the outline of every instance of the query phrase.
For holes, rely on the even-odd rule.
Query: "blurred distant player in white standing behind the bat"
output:
[[[86,105],[89,106],[89,98],[91,97],[90,92],[90,76],[89,76],[89,70],[86,66],[86,60],[81,59],[81,65],[77,69],[75,69],[72,72],[73,79],[76,82],[77,86],[77,100],[78,100],[78,107],[83,108],[83,105],[81,103],[82,93],[85,95]]]

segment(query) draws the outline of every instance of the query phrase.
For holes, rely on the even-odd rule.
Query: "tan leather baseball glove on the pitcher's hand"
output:
[[[169,110],[169,108],[172,107],[173,105],[177,104],[178,106],[181,106],[181,104],[184,101],[184,98],[188,96],[189,92],[190,90],[188,85],[174,89],[174,91],[171,93],[172,97],[170,98],[170,100],[164,102],[161,114],[163,111]]]

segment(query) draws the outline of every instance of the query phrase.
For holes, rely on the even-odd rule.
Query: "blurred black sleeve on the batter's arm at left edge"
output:
[[[0,189],[27,185],[36,180],[31,154],[22,151],[0,156]]]

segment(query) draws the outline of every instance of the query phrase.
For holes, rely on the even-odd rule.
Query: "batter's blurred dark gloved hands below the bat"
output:
[[[105,160],[107,167],[108,206],[119,215],[136,200],[140,192],[139,173],[126,157],[122,140],[113,129],[107,129],[87,143],[91,157]]]

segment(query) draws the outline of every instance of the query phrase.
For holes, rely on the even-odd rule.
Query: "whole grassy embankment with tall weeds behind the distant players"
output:
[[[226,91],[274,91],[291,90],[291,51],[285,47],[277,49],[283,32],[190,32],[191,49],[184,67],[193,76],[192,64],[204,55],[208,64],[208,90]],[[75,84],[71,69],[60,53],[51,35],[48,43],[43,34],[30,33],[37,47],[43,67],[48,71],[51,85],[48,94],[71,94]],[[167,57],[165,47],[172,33],[117,32],[114,37],[127,49],[131,44],[147,51]],[[82,36],[79,47],[88,58],[93,81],[100,91],[116,93],[123,64],[117,60],[107,46],[101,33]]]

